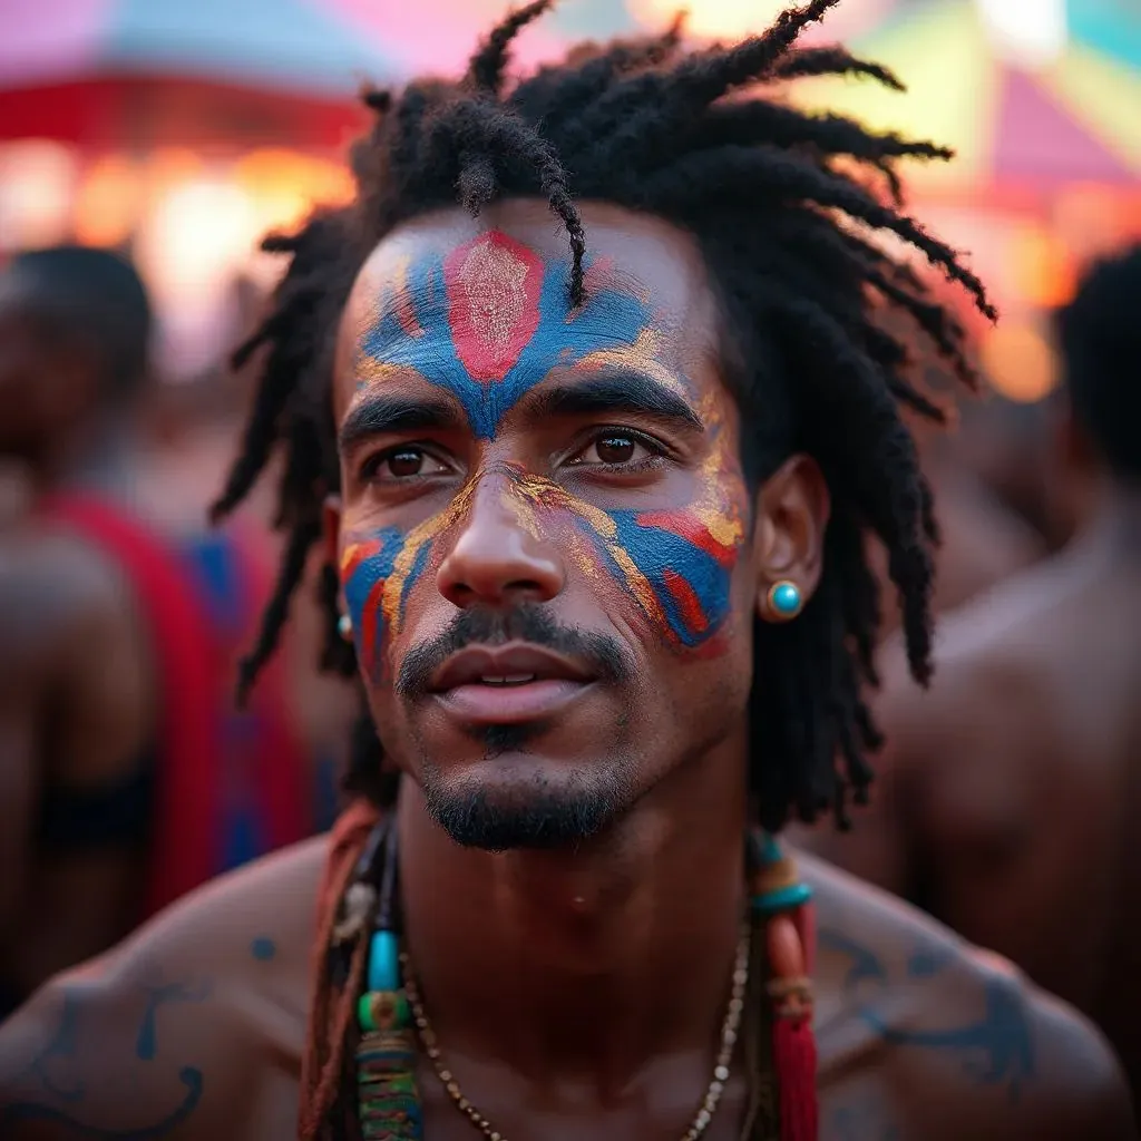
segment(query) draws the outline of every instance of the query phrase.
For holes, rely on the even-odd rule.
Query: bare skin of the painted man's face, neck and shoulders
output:
[[[508,1136],[667,1139],[683,1132],[709,1082],[744,903],[751,618],[772,581],[811,591],[827,499],[804,460],[747,500],[726,475],[721,507],[730,517],[747,512],[750,525],[728,570],[729,606],[722,617],[705,610],[711,632],[695,646],[675,637],[664,606],[658,616],[649,605],[661,605],[656,591],[641,596],[617,558],[602,558],[608,512],[696,511],[709,492],[699,474],[722,434],[736,440],[737,424],[717,372],[715,308],[689,242],[653,219],[593,205],[583,213],[593,253],[647,290],[655,327],[672,330],[647,363],[685,377],[704,430],[687,436],[659,413],[613,404],[563,415],[548,405],[535,415],[526,396],[483,427],[458,415],[448,427],[405,420],[381,432],[374,421],[356,448],[343,448],[330,553],[350,561],[346,551],[363,531],[410,535],[443,520],[411,588],[390,592],[383,576],[373,612],[383,625],[364,679],[385,747],[412,778],[397,809],[407,946],[450,1067]],[[395,276],[379,270],[402,253],[413,264],[446,260],[491,232],[544,262],[564,256],[537,203],[504,203],[478,225],[458,211],[421,219],[379,248],[342,327],[333,399],[342,434],[354,402],[377,382],[361,377],[358,362]],[[419,310],[416,319],[426,319]],[[563,379],[544,374],[528,391]],[[421,408],[443,387],[419,371],[379,382]],[[636,430],[669,440],[667,461],[637,472],[569,462],[583,453],[597,462],[600,437]],[[407,475],[397,456],[413,444],[438,468],[394,491],[367,461],[385,456],[388,476]],[[515,509],[518,480],[541,484],[534,516]],[[594,510],[584,516],[578,502]],[[630,559],[646,565],[640,553]],[[458,613],[539,600],[560,626],[613,639],[631,669],[495,748],[439,702],[402,690],[415,647]],[[621,763],[608,762],[615,755]],[[575,844],[493,853],[437,826],[432,787],[437,815],[460,790],[477,793],[489,816],[518,822],[552,788],[564,802],[601,791],[609,815]],[[21,1141],[289,1135],[324,843],[195,895],[0,1030],[0,1132]],[[812,861],[806,872],[822,926],[825,1138],[1133,1135],[1115,1063],[1081,1020],[903,905]],[[426,1135],[469,1139],[431,1073],[420,1078]],[[712,1141],[738,1135],[744,1098],[738,1065]]]

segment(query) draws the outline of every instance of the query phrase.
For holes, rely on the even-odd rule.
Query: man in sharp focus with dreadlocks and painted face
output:
[[[865,521],[925,667],[925,495],[893,393],[922,397],[865,288],[958,351],[823,204],[980,292],[830,169],[909,145],[715,102],[869,70],[794,50],[830,6],[504,95],[540,2],[461,83],[370,96],[359,201],[288,243],[221,503],[285,444],[290,573],[260,649],[323,525],[330,658],[356,658],[380,729],[353,774],[370,803],[47,988],[0,1034],[0,1130],[1133,1136],[1074,1014],[817,864],[814,940],[806,884],[753,839],[867,783]]]

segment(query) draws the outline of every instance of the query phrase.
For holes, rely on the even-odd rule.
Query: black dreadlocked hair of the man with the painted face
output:
[[[215,517],[250,491],[275,446],[286,458],[277,525],[288,542],[260,639],[242,664],[242,694],[277,644],[318,535],[322,499],[339,486],[332,348],[364,259],[395,226],[429,210],[460,203],[475,215],[496,197],[540,196],[566,229],[577,305],[586,237],[575,199],[600,200],[696,237],[721,302],[750,477],[761,482],[807,452],[827,479],[832,517],[818,590],[796,622],[756,624],[750,778],[763,826],[778,828],[791,815],[811,820],[830,807],[845,826],[849,799],[866,800],[866,754],[880,744],[861,697],[877,680],[880,617],[867,532],[889,555],[912,673],[925,683],[931,672],[938,535],[905,416],[941,422],[946,410],[913,378],[907,345],[889,331],[898,323],[877,321],[877,309],[903,314],[958,378],[976,383],[961,326],[875,232],[920,251],[995,314],[957,254],[899,204],[897,160],[945,160],[949,152],[758,94],[803,75],[855,74],[900,87],[842,48],[795,46],[836,2],[790,9],[763,35],[733,47],[683,51],[674,24],[658,38],[583,46],[509,82],[510,41],[552,3],[535,0],[492,31],[458,82],[365,94],[377,120],[350,155],[357,199],[317,212],[291,237],[267,240],[267,250],[291,256],[289,270],[273,311],[235,355],[242,364],[267,349]],[[350,675],[332,567],[321,589],[324,664]],[[382,761],[375,731],[363,726],[350,787],[389,800]]]

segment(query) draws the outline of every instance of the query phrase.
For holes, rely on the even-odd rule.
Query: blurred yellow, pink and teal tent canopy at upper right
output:
[[[1141,11],[1074,0],[1061,54],[1028,67],[996,50],[979,5],[898,5],[852,49],[891,67],[899,95],[866,81],[799,84],[806,106],[933,139],[953,163],[915,168],[928,193],[1037,193],[1073,184],[1135,189],[1141,176]]]

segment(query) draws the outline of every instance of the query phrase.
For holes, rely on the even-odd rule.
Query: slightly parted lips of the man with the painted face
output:
[[[429,694],[472,725],[515,725],[552,717],[597,675],[559,654],[525,644],[469,646],[432,675]]]

